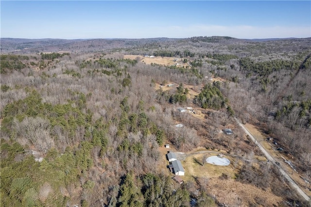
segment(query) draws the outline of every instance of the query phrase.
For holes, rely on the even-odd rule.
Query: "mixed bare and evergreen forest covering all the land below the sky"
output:
[[[32,47],[24,49],[26,43]],[[310,205],[277,166],[256,159],[264,156],[235,121],[258,127],[294,157],[311,193],[310,45],[310,38],[59,40],[50,46],[1,40],[0,206]],[[148,64],[149,55],[172,64]],[[234,135],[220,133],[224,128]],[[184,183],[174,182],[167,151],[190,155],[202,148],[233,157],[234,173],[205,177],[188,167]],[[192,162],[206,167],[206,155],[200,159]],[[212,187],[215,179],[280,201],[269,202],[265,193],[224,201],[213,193],[220,188]]]

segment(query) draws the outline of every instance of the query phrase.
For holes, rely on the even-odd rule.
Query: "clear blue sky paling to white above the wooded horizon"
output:
[[[11,38],[311,37],[311,1],[0,1]]]

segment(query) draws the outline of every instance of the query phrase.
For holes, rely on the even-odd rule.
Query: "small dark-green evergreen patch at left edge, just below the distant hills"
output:
[[[29,57],[26,55],[1,54],[0,59],[1,73],[7,73],[26,68],[26,65],[22,61],[29,60]]]

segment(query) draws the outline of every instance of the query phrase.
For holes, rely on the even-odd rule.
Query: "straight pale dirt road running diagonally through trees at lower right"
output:
[[[266,149],[264,147],[262,147],[262,145],[254,138],[254,136],[245,128],[245,126],[238,120],[235,118],[235,120],[239,123],[239,125],[242,127],[242,129],[244,130],[244,132],[253,140],[253,142],[259,147],[259,149],[261,150],[261,152],[267,157],[267,159],[276,164],[276,160],[266,151]],[[306,201],[310,201],[310,197],[299,188],[299,186],[294,182],[294,180],[290,177],[290,175],[288,173],[286,173],[284,171],[284,169],[282,167],[280,167],[279,165],[276,165],[276,167],[278,168],[278,170],[280,171],[280,173],[282,173],[284,175],[284,177],[287,179],[287,181],[289,182],[289,184],[292,186],[292,188],[294,188]]]

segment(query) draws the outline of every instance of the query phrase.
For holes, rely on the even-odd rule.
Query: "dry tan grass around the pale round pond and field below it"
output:
[[[215,152],[188,156],[184,161],[181,161],[186,172],[183,179],[185,181],[194,181],[194,177],[208,178],[207,189],[209,194],[216,197],[220,203],[229,206],[248,207],[250,204],[257,203],[262,207],[272,207],[283,200],[281,197],[274,195],[270,189],[265,191],[253,185],[235,181],[235,174],[239,172],[241,162],[238,161],[237,168],[234,168],[234,157],[225,156],[231,162],[228,166],[217,166],[208,163],[201,165],[203,157],[218,154]],[[264,157],[260,156],[257,158],[259,160],[264,159]],[[253,167],[256,168],[257,164],[253,164]],[[223,173],[228,176],[228,179],[220,178]]]

